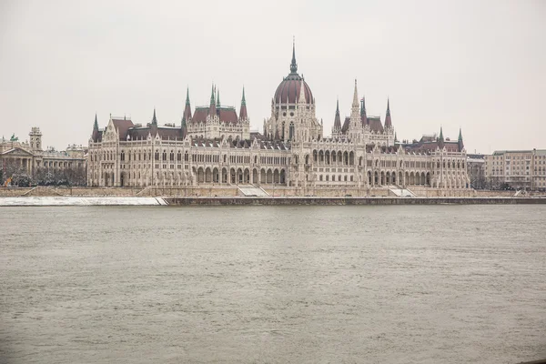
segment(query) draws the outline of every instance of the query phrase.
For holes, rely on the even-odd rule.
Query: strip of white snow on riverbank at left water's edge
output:
[[[154,206],[160,197],[0,197],[0,206]]]

